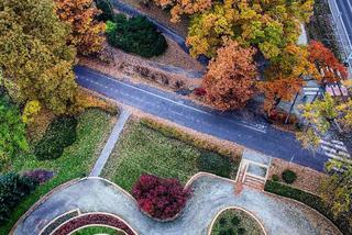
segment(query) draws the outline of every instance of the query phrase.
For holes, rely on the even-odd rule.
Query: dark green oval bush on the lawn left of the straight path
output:
[[[65,147],[76,141],[77,120],[70,116],[61,116],[54,120],[44,137],[36,144],[34,155],[37,159],[56,159],[64,153]]]

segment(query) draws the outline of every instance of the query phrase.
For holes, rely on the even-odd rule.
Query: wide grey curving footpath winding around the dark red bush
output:
[[[250,189],[235,195],[230,180],[200,175],[189,187],[194,194],[182,215],[173,222],[161,223],[143,215],[135,200],[116,184],[100,178],[86,178],[44,200],[18,224],[14,234],[38,234],[56,216],[79,209],[82,213],[116,214],[139,234],[206,235],[217,212],[228,206],[252,212],[267,234],[341,234],[330,221],[298,202]]]

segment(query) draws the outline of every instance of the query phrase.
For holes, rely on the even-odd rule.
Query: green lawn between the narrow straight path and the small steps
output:
[[[105,178],[131,192],[142,174],[178,178],[183,183],[199,171],[234,178],[238,161],[167,137],[140,122],[130,122],[103,170]]]

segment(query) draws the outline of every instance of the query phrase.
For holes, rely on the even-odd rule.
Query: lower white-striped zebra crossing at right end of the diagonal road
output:
[[[351,158],[348,148],[341,141],[320,141],[320,147],[326,156],[331,159],[342,160],[343,158]]]

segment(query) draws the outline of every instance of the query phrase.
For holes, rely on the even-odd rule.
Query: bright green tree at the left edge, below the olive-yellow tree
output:
[[[0,98],[0,169],[21,150],[28,150],[25,124],[7,97]]]

